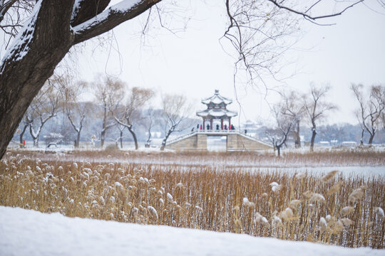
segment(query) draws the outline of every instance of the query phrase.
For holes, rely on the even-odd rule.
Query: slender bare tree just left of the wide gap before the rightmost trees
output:
[[[325,101],[329,85],[310,85],[309,95],[304,95],[304,109],[309,122],[312,124],[312,139],[310,140],[310,151],[314,151],[314,139],[317,135],[317,122],[327,116],[327,112],[337,110],[337,106]]]

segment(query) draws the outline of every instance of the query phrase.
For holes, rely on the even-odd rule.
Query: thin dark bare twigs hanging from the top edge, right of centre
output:
[[[361,0],[339,1],[325,14],[322,1],[225,0],[227,29],[222,38],[235,52],[235,76],[245,71],[252,84],[265,84],[264,77],[280,80],[282,56],[297,43],[301,17],[312,23],[339,16]],[[323,24],[324,25],[324,24]],[[328,24],[329,25],[329,24]],[[294,35],[294,36],[293,36]],[[267,85],[265,85],[267,87]]]

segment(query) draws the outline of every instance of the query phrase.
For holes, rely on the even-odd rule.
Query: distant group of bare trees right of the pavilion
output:
[[[311,132],[302,132],[309,142],[310,151],[314,150],[314,142],[320,140],[337,144],[337,141],[345,140],[356,142],[358,137],[360,146],[364,146],[364,140],[367,139],[367,144],[371,147],[375,135],[385,129],[385,86],[371,85],[365,88],[364,85],[351,85],[352,95],[358,103],[353,112],[359,123],[359,131],[350,124],[320,127],[322,122],[327,121],[329,114],[338,110],[337,105],[328,101],[330,89],[329,85],[312,84],[307,93],[294,90],[279,92],[281,98],[271,107],[274,124],[263,127],[260,137],[265,137],[272,143],[278,156],[289,139],[294,141],[296,147],[302,146],[299,134],[307,129],[302,126],[311,129]]]

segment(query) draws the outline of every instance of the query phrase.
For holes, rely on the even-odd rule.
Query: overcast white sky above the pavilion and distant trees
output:
[[[96,73],[115,75],[130,86],[150,87],[160,93],[179,93],[197,102],[209,97],[215,89],[225,97],[235,99],[233,86],[234,58],[222,50],[218,39],[225,29],[226,16],[222,1],[205,4],[202,1],[178,1],[188,8],[191,20],[178,36],[165,30],[153,30],[146,45],[140,41],[141,21],[128,21],[114,29],[113,48],[109,43],[96,48],[88,43],[80,56],[79,75],[92,80]],[[280,84],[307,91],[310,82],[329,83],[329,100],[339,106],[329,122],[356,123],[353,110],[356,102],[351,82],[385,82],[385,9],[371,1],[366,3],[376,11],[359,4],[342,16],[329,19],[335,26],[316,26],[304,22],[304,36],[287,58],[296,60],[286,72],[296,73]],[[117,50],[118,49],[118,50]],[[277,81],[267,79],[272,87]],[[263,90],[262,90],[263,92]],[[274,92],[267,98],[258,90],[237,86],[242,105],[241,122],[245,119],[266,119],[267,102],[277,100]],[[267,101],[267,102],[266,102]],[[238,110],[233,103],[232,110]],[[235,120],[237,123],[237,120]]]

